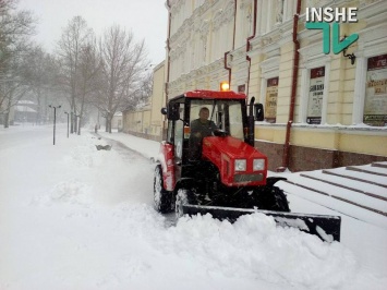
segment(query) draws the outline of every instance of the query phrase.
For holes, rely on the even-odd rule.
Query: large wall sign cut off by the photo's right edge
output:
[[[363,122],[387,125],[387,55],[368,59]]]

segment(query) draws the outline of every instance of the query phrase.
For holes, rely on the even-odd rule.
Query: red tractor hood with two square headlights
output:
[[[267,157],[247,143],[231,136],[209,136],[203,140],[203,157],[211,161],[226,185],[264,185],[267,176]],[[261,167],[254,168],[254,161]],[[244,168],[235,165],[242,160]],[[245,160],[245,161],[243,161]]]

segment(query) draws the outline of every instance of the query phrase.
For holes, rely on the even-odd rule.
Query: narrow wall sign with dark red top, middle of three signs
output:
[[[325,67],[311,70],[310,94],[306,112],[306,123],[309,124],[319,124],[322,122],[324,76]]]

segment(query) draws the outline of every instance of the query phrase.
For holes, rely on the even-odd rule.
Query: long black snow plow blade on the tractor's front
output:
[[[340,216],[294,214],[249,208],[232,208],[218,206],[183,205],[184,215],[210,214],[216,219],[235,221],[242,215],[261,213],[274,217],[278,226],[298,228],[301,231],[315,234],[325,242],[340,242]]]

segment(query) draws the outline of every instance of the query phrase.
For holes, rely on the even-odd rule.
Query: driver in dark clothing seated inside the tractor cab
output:
[[[198,112],[198,119],[191,122],[190,159],[201,158],[203,138],[211,136],[213,132],[218,129],[214,121],[208,120],[208,108],[202,107]]]

